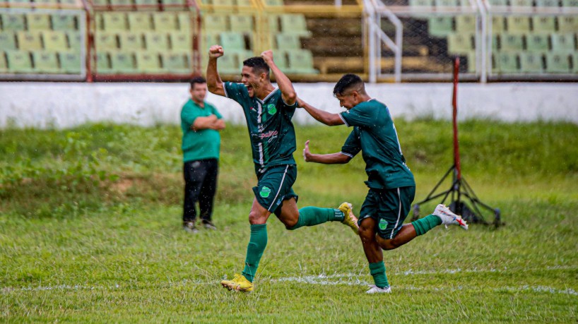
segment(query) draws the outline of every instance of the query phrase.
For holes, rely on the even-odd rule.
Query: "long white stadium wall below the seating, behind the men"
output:
[[[333,83],[298,83],[295,90],[321,109],[340,112]],[[70,128],[88,122],[150,126],[178,124],[186,83],[0,83],[0,128]],[[451,83],[367,85],[392,116],[451,119]],[[225,120],[244,124],[240,107],[209,94]],[[578,83],[464,83],[458,89],[459,119],[570,121],[578,124]],[[314,124],[298,110],[296,124]]]

